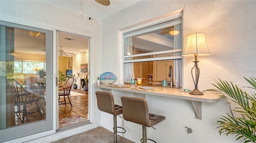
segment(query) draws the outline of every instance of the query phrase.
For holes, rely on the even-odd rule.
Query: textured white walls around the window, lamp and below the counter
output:
[[[186,34],[205,32],[208,47],[212,55],[199,57],[201,70],[199,89],[212,87],[212,78],[220,77],[234,81],[238,86],[245,84],[243,76],[255,76],[255,1],[142,1],[117,14],[102,20],[88,21],[81,19],[81,14],[53,6],[42,1],[5,1],[0,3],[1,16],[17,20],[54,27],[59,30],[93,36],[91,77],[95,79],[105,71],[112,71],[120,77],[118,70],[117,31],[169,12],[184,9],[184,42]],[[101,30],[101,31],[100,31]],[[101,33],[102,32],[102,33]],[[102,37],[102,39],[101,39]],[[184,45],[185,46],[185,45]],[[102,54],[101,54],[102,53]],[[193,67],[192,57],[184,57],[184,87],[193,88],[190,70]],[[103,64],[101,64],[103,63]],[[101,70],[102,69],[102,70]],[[119,82],[119,81],[117,81]],[[100,89],[94,89],[94,91]],[[94,93],[92,91],[91,93]],[[129,93],[113,91],[116,103],[120,104],[122,95]],[[166,120],[156,126],[157,130],[148,129],[148,137],[157,142],[232,142],[232,136],[219,136],[216,121],[220,115],[228,113],[225,101],[203,103],[203,119],[194,119],[194,111],[189,101],[166,97],[146,97],[150,111],[166,116]],[[96,100],[94,100],[96,105]],[[98,124],[100,113],[94,106],[94,123]],[[102,113],[101,124],[112,131],[113,116]],[[139,142],[142,137],[141,126],[118,118],[118,125],[128,127],[124,137]],[[193,129],[186,133],[185,126]],[[63,136],[79,133],[92,128],[92,125],[72,131],[61,132],[38,139],[47,142]],[[86,128],[86,129],[85,129]],[[122,135],[122,134],[121,134]]]

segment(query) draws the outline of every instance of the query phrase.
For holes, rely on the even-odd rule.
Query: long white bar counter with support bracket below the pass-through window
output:
[[[162,97],[170,97],[170,98],[177,98],[177,99],[184,99],[184,100],[190,100],[194,111],[195,111],[195,118],[196,119],[202,119],[202,102],[206,103],[216,103],[220,101],[221,97],[220,94],[216,94],[213,92],[204,92],[204,95],[190,95],[189,93],[182,92],[178,88],[170,88],[162,86],[154,86],[152,83],[147,84],[144,83],[142,85],[130,85],[130,87],[127,88],[118,88],[118,87],[111,87],[111,84],[103,84],[103,83],[94,83],[95,87],[100,88],[102,91],[105,92],[111,92],[111,90],[118,90],[118,91],[126,91],[126,92],[132,92],[136,97],[142,97],[145,99],[148,95],[155,95],[155,96],[162,96]],[[140,86],[152,86],[156,88],[162,89],[161,91],[141,91],[137,89],[133,89],[134,87],[140,87]]]

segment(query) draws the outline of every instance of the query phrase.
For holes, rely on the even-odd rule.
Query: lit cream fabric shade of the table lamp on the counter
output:
[[[205,33],[192,33],[188,34],[186,41],[186,47],[182,56],[206,56],[210,55],[206,44]]]

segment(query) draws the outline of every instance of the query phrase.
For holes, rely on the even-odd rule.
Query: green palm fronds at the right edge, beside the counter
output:
[[[227,81],[216,80],[213,84],[217,89],[208,89],[208,91],[214,91],[221,93],[220,95],[223,98],[226,98],[228,104],[235,105],[235,108],[231,110],[238,113],[240,117],[234,117],[227,114],[226,116],[220,117],[220,121],[217,121],[220,126],[219,133],[228,135],[235,134],[236,140],[241,139],[240,141],[246,142],[256,142],[256,78],[246,79],[252,87],[247,87],[253,91],[246,92],[238,88],[237,85],[234,85],[232,82],[228,83]]]

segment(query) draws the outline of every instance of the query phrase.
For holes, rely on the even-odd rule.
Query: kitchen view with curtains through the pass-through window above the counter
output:
[[[169,86],[181,87],[181,20],[124,33],[124,82],[142,78],[161,86],[162,80],[168,80]]]

